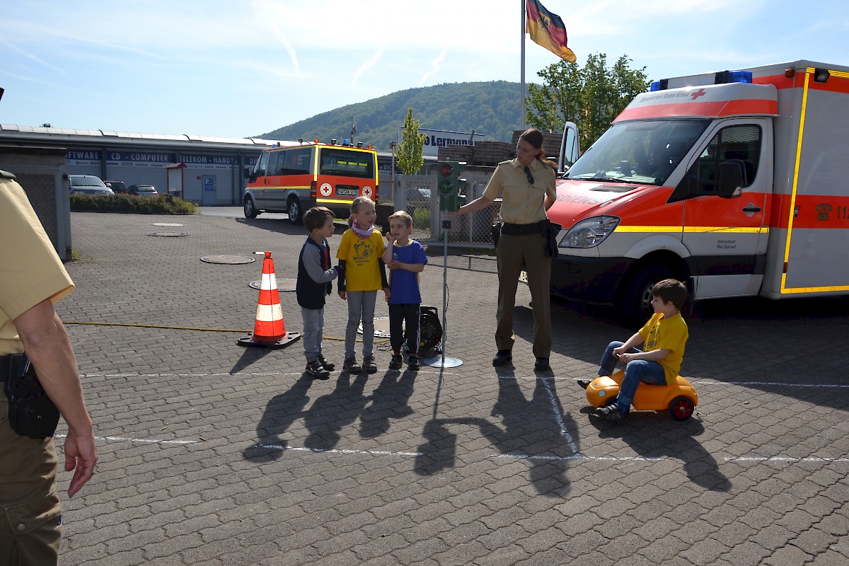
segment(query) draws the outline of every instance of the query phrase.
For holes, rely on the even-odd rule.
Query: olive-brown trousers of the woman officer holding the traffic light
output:
[[[513,311],[519,273],[525,266],[533,302],[533,355],[551,355],[551,258],[545,253],[546,240],[542,234],[526,236],[501,234],[498,240],[498,326],[495,344],[498,350],[511,350]]]

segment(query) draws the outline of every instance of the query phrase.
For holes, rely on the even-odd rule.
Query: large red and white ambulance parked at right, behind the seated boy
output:
[[[694,300],[849,294],[849,67],[651,83],[558,181],[552,292],[651,315]]]

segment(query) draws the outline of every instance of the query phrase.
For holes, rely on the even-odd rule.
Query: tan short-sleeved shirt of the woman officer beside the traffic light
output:
[[[545,196],[557,197],[554,169],[540,160],[528,165],[533,184],[528,182],[525,167],[519,159],[502,161],[486,184],[483,196],[495,200],[502,197],[501,219],[508,224],[533,224],[546,219]]]

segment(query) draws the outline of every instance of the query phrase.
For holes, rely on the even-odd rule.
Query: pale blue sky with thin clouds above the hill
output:
[[[627,54],[651,80],[796,59],[849,65],[845,1],[543,5],[564,20],[579,64]],[[521,0],[0,6],[2,124],[250,137],[407,88],[521,76]],[[526,81],[556,62],[526,40]]]

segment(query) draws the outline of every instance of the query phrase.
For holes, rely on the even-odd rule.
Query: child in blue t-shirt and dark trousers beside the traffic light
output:
[[[390,269],[389,341],[392,346],[390,369],[401,369],[401,346],[407,341],[407,365],[419,370],[419,273],[424,270],[427,256],[422,244],[410,239],[413,218],[404,210],[389,217],[386,249],[383,261]]]

